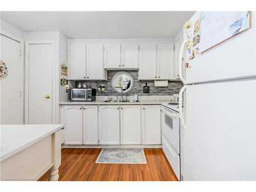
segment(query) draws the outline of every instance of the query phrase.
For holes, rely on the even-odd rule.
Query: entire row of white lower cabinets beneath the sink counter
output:
[[[67,145],[161,144],[160,105],[64,105]]]

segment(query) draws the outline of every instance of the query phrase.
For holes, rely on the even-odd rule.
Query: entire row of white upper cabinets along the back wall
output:
[[[69,79],[106,80],[106,70],[119,69],[139,69],[139,80],[177,79],[176,44],[175,53],[173,44],[70,44]]]

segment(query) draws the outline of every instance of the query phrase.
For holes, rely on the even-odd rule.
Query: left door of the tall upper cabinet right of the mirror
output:
[[[157,46],[140,45],[139,79],[155,79],[157,67]]]

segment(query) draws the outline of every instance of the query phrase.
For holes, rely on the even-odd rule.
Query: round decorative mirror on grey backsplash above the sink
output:
[[[133,86],[133,76],[125,71],[117,72],[112,78],[112,87],[117,93],[129,93],[132,91]]]

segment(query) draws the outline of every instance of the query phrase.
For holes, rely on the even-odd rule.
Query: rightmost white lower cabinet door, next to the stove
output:
[[[142,105],[143,144],[161,144],[160,105]]]

